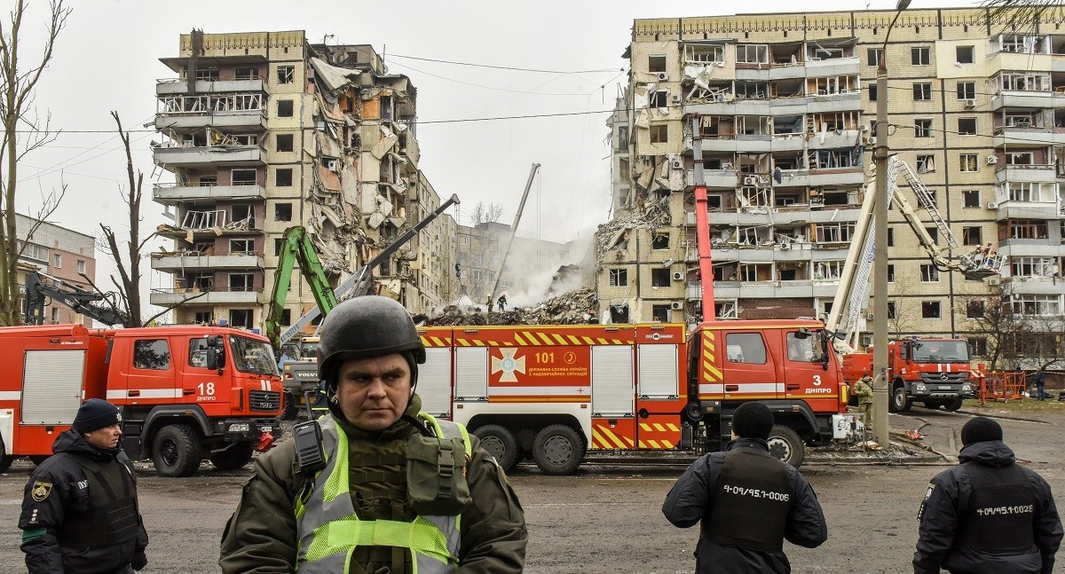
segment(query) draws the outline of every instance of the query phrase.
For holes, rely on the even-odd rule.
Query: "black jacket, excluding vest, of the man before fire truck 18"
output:
[[[60,453],[86,456],[100,464],[122,464],[133,474],[133,463],[121,450],[102,450],[85,442],[81,433],[68,430],[52,445],[56,456],[49,457],[26,485],[22,514],[22,552],[30,574],[126,574],[131,564],[144,559],[148,534],[137,515],[137,537],[125,543],[101,546],[69,546],[56,538],[65,516],[88,509],[89,489],[85,472],[78,462]],[[136,478],[133,478],[134,483]],[[39,489],[34,496],[34,490]],[[137,556],[140,555],[140,556]],[[142,562],[143,563],[143,562]]]

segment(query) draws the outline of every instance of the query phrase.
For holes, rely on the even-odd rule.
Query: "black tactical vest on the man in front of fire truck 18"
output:
[[[88,510],[67,513],[55,538],[64,546],[102,546],[136,538],[141,520],[136,486],[130,470],[119,461],[100,464],[83,455],[61,453],[77,462],[88,481]]]

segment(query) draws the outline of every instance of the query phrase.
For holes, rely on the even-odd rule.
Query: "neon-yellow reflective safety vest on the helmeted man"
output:
[[[461,439],[465,457],[470,458],[472,445],[465,427],[437,421],[424,412],[419,417],[429,424],[438,438]],[[417,515],[411,522],[361,520],[349,492],[347,434],[337,429],[331,414],[318,423],[327,463],[315,476],[310,496],[296,504],[299,537],[296,569],[301,574],[347,572],[357,547],[393,546],[406,548],[413,558],[416,574],[455,571],[459,560],[460,516]]]

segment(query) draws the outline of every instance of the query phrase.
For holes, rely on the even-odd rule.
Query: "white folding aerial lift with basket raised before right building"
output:
[[[943,237],[943,246],[937,245],[932,234],[924,228],[917,216],[916,210],[899,190],[899,175],[906,181],[917,197],[918,209],[923,209],[936,226]],[[847,333],[840,350],[853,350],[857,347],[858,315],[869,305],[869,285],[873,263],[873,207],[876,201],[875,182],[879,174],[873,171],[866,191],[865,200],[854,227],[854,236],[839,279],[839,290],[832,302],[832,310],[825,321],[825,328],[839,337]],[[887,162],[887,188],[891,194],[891,202],[899,209],[910,229],[917,236],[918,243],[928,255],[936,269],[940,272],[957,272],[969,279],[984,279],[1002,273],[1003,258],[997,253],[963,253],[957,259],[951,259],[950,251],[960,247],[950,226],[939,215],[931,192],[924,186],[917,174],[898,155],[891,155]],[[886,318],[886,317],[885,317]]]

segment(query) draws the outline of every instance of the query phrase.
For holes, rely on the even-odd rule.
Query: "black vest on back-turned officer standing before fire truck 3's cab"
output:
[[[792,498],[781,461],[753,448],[728,450],[703,536],[725,546],[782,551]]]

